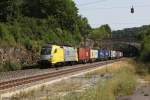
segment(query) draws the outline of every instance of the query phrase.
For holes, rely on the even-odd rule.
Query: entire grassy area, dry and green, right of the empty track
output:
[[[20,100],[36,95],[39,96],[39,94],[44,93],[45,95],[42,100],[116,100],[117,96],[125,96],[133,93],[139,76],[150,80],[148,70],[144,69],[144,66],[131,59],[126,59],[125,61],[109,64],[100,70],[85,74],[87,80],[90,80],[95,75],[110,74],[111,77],[103,77],[95,86],[84,90],[81,89],[84,84],[82,79],[81,81],[64,80],[51,86],[42,86],[38,89],[38,92],[36,90],[23,92],[16,96]]]

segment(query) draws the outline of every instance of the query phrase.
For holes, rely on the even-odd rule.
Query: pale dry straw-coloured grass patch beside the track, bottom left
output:
[[[55,100],[61,96],[66,95],[68,92],[81,89],[82,83],[80,81],[61,81],[52,85],[43,85],[40,88],[35,88],[30,91],[21,91],[11,97],[11,100]],[[38,98],[38,99],[39,99]],[[42,98],[42,99],[41,99]]]

